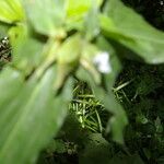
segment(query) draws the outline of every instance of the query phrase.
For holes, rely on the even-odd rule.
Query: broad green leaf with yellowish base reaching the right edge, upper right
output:
[[[106,36],[133,50],[147,62],[164,62],[164,33],[152,27],[120,0],[108,1],[105,13],[106,16],[101,16],[101,24]]]

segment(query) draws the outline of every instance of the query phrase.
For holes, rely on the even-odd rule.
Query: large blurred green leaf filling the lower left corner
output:
[[[40,81],[32,77],[24,82],[21,74],[5,69],[0,74],[0,163],[33,164],[38,153],[57,133],[67,115],[71,98],[70,81],[58,96],[52,84],[54,69]],[[21,155],[20,155],[21,154]]]

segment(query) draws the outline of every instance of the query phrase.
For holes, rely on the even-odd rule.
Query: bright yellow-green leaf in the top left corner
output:
[[[24,11],[21,0],[1,0],[0,1],[0,21],[5,23],[22,22]]]

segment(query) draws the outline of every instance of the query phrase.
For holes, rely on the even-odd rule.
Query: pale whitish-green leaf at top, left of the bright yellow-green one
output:
[[[34,28],[44,35],[57,36],[63,32],[65,0],[25,0],[27,17]],[[65,35],[65,34],[63,34]]]

